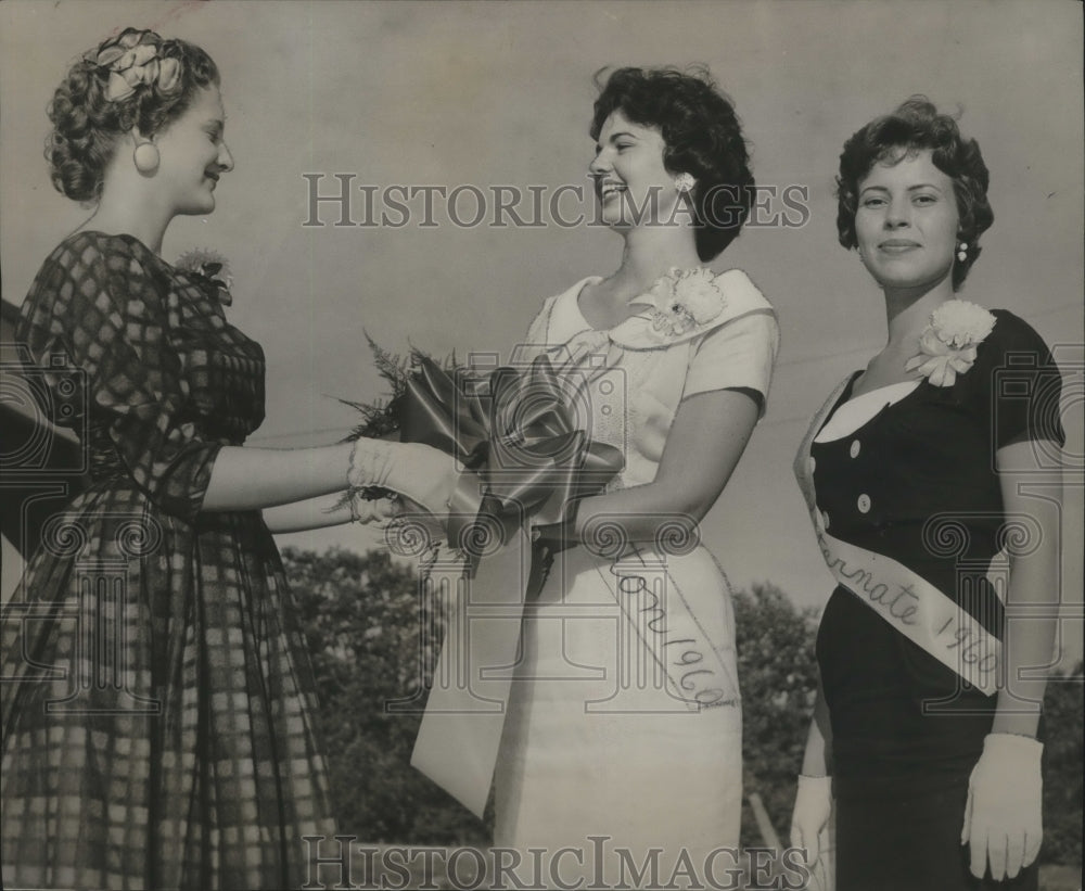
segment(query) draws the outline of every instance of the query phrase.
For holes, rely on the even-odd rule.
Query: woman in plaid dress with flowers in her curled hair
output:
[[[264,417],[263,351],[216,282],[158,256],[233,167],[218,84],[203,50],[128,29],[50,106],[53,182],[97,206],[46,259],[18,336],[54,398],[85,406],[68,422],[92,483],[5,614],[9,888],[297,887],[303,837],[334,833],[270,531],[387,511],[339,506],[349,444],[242,446]],[[424,467],[393,454],[382,482],[425,504]]]

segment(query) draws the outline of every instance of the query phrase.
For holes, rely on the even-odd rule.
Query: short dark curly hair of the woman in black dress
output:
[[[957,291],[980,256],[980,236],[995,220],[987,201],[991,177],[979,143],[962,137],[957,122],[940,114],[926,96],[911,97],[892,114],[875,118],[857,130],[844,143],[837,177],[837,231],[844,247],[857,247],[855,212],[859,206],[859,183],[875,164],[895,164],[923,149],[930,150],[934,166],[953,180],[960,217],[957,237],[968,244],[965,259],[953,265],[953,290]]]

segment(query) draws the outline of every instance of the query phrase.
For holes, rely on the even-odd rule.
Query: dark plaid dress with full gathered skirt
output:
[[[305,638],[259,512],[201,512],[264,418],[263,351],[205,279],[98,232],[46,260],[20,341],[84,406],[93,482],[4,614],[4,887],[304,883],[334,831]]]

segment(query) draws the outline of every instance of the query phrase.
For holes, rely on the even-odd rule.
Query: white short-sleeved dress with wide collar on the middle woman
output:
[[[764,404],[778,329],[769,304],[731,270],[715,280],[727,309],[712,321],[660,333],[641,314],[597,331],[578,307],[595,281],[545,302],[524,353],[546,352],[563,367],[592,438],[624,451],[609,488],[637,486],[654,479],[684,398],[740,387]],[[713,850],[738,845],[742,720],[730,590],[695,533],[677,521],[674,529],[671,546],[631,545],[616,560],[583,545],[563,551],[524,612],[495,844],[583,852],[562,858],[562,881],[628,883],[624,867],[639,868],[659,848],[666,882],[680,856],[700,870]],[[717,875],[727,865],[720,860]]]

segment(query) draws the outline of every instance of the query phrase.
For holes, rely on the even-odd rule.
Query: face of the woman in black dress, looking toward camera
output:
[[[930,288],[953,269],[960,217],[953,180],[929,149],[879,162],[859,181],[855,234],[883,288]]]

